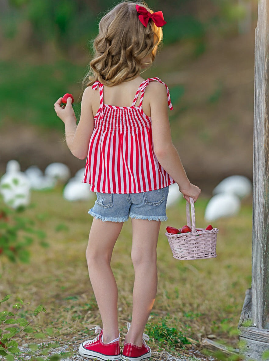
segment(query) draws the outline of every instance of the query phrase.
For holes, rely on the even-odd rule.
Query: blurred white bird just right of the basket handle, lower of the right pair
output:
[[[233,193],[219,193],[213,196],[206,206],[204,218],[215,221],[221,217],[230,217],[238,214],[241,204],[237,195]]]

